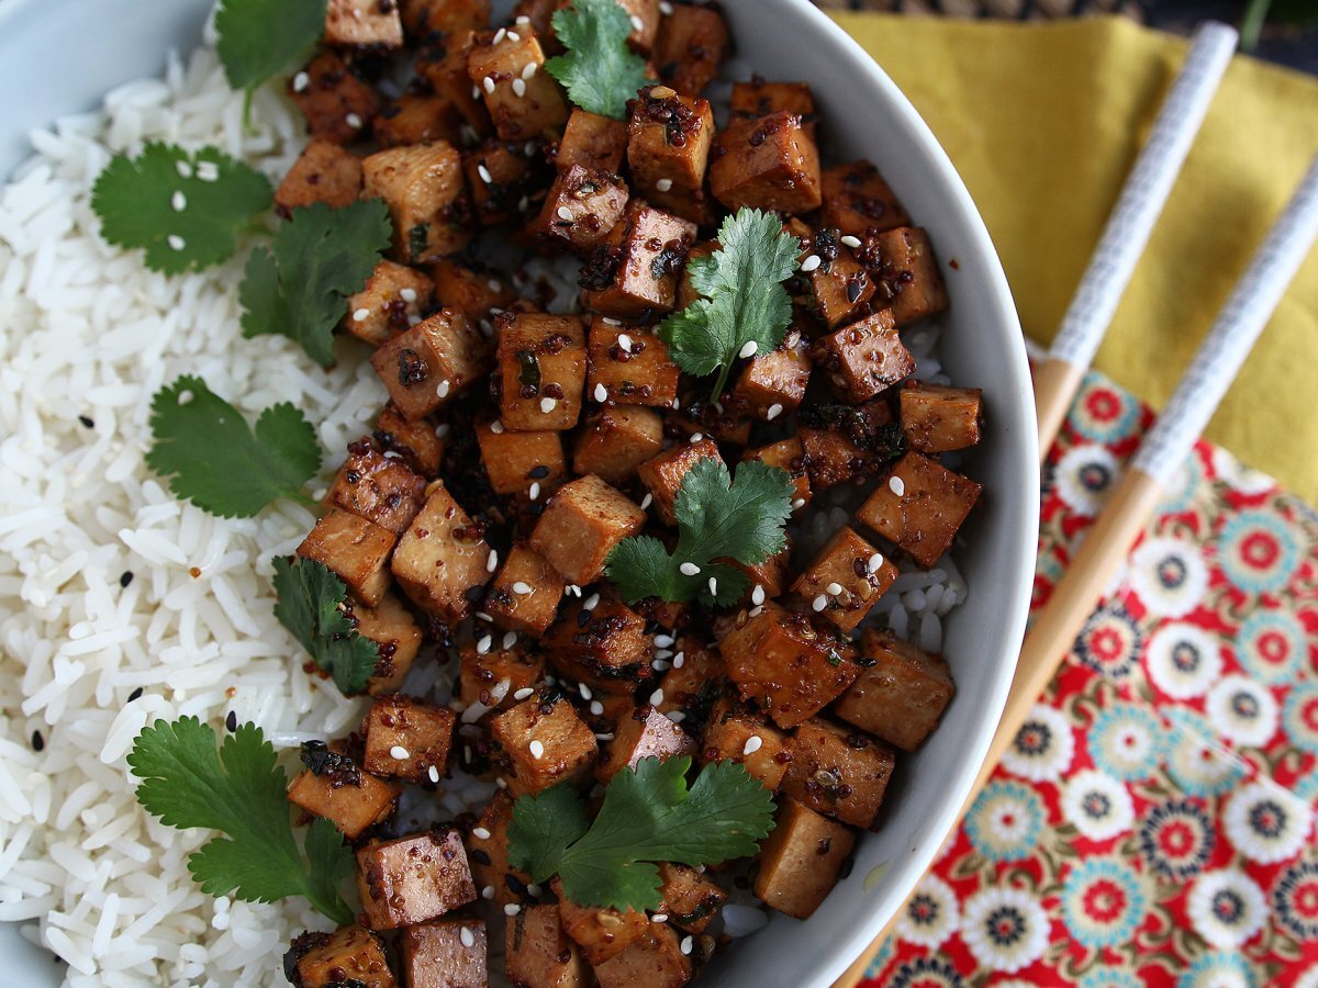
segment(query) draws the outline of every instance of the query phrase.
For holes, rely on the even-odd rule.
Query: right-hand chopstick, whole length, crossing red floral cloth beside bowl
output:
[[[1020,649],[1002,719],[960,815],[963,817],[974,804],[1003,752],[1029,717],[1035,702],[1070,652],[1085,622],[1126,560],[1131,543],[1144,530],[1177,468],[1193,452],[1195,439],[1203,432],[1239,373],[1315,237],[1318,157],[1310,163],[1290,202],[1218,314],[1162,415],[1144,436],[1131,468],[1086,534],[1070,568],[1057,582],[1048,603],[1035,615],[1035,623]],[[902,909],[834,983],[834,988],[854,988],[865,976],[874,954],[892,933],[900,914]]]

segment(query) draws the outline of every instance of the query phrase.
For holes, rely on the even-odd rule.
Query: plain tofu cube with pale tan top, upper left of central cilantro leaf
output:
[[[531,532],[531,548],[569,584],[585,586],[604,573],[614,547],[645,524],[646,512],[635,502],[589,474],[550,499]]]

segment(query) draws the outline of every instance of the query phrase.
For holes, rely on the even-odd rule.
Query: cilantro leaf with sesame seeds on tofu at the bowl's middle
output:
[[[741,464],[735,480],[722,462],[700,460],[681,478],[673,502],[679,532],[673,552],[650,536],[623,539],[609,555],[609,578],[627,603],[646,597],[680,602],[697,595],[706,605],[735,603],[746,591],[746,576],[716,560],[755,565],[782,551],[793,494],[787,472],[760,460]],[[699,572],[683,573],[684,564]]]

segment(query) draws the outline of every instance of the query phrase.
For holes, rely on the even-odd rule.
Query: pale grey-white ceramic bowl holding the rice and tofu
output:
[[[162,71],[194,47],[211,0],[0,0],[0,177],[29,153],[30,128],[91,109],[111,87]],[[919,115],[861,47],[807,0],[724,0],[738,58],[770,79],[811,83],[830,161],[867,157],[929,231],[950,312],[941,358],[985,393],[983,443],[965,470],[985,495],[958,564],[969,599],[949,615],[944,651],[957,696],[942,725],[899,759],[880,833],[808,921],[768,929],[716,958],[706,984],[820,985],[842,974],[933,860],[983,760],[1024,632],[1039,531],[1039,454],[1029,370],[1015,306],[979,213]],[[933,69],[931,69],[933,71]],[[1021,190],[1025,194],[1028,190]],[[952,269],[948,261],[956,260]],[[0,923],[11,988],[45,988],[62,970]]]

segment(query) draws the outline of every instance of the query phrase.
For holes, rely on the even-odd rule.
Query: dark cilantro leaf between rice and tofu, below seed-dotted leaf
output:
[[[380,199],[294,209],[274,236],[274,253],[258,248],[248,258],[239,291],[243,335],[287,336],[316,364],[332,366],[333,328],[345,300],[365,287],[391,229]]]

